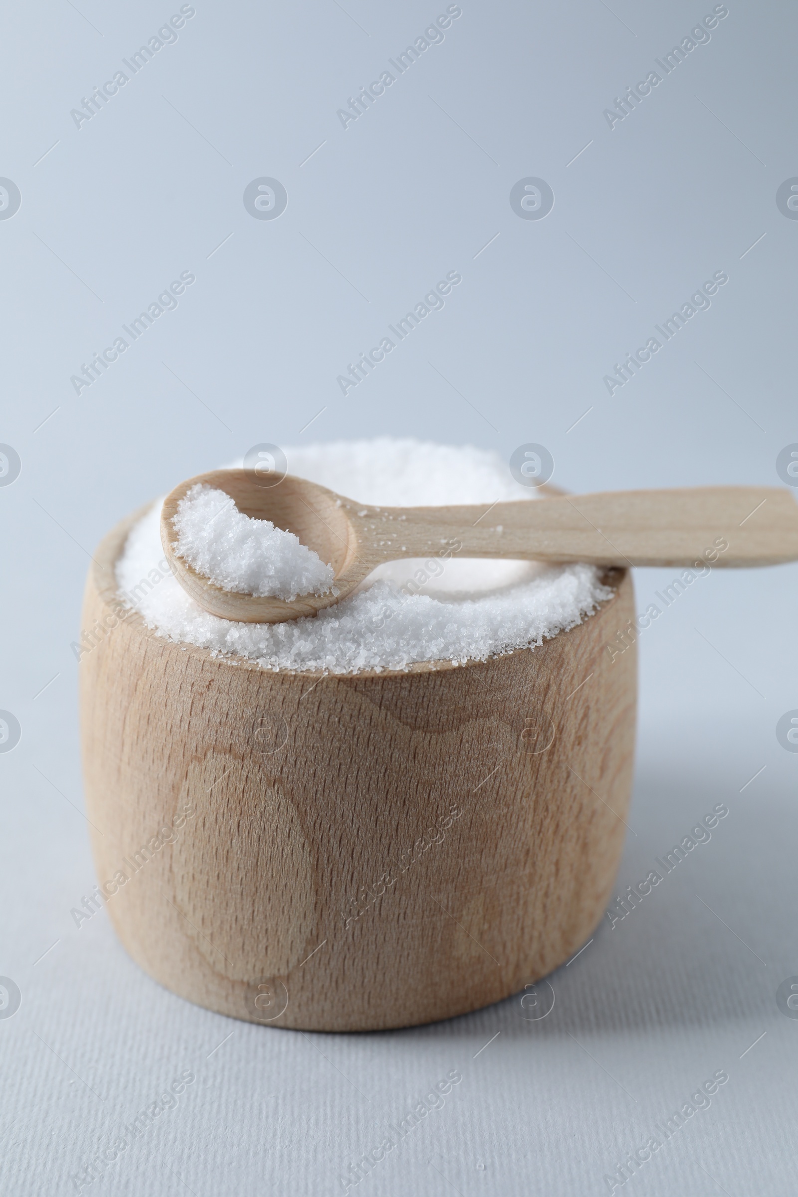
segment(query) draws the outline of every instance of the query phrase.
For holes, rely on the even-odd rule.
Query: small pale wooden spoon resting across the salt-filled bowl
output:
[[[293,602],[223,590],[176,554],[172,518],[197,482],[218,487],[239,511],[292,531],[335,571],[334,591]],[[384,561],[451,555],[591,565],[778,565],[798,560],[798,503],[781,488],[707,486],[615,491],[544,500],[447,508],[377,508],[286,475],[264,487],[251,469],[215,469],[166,497],[160,539],[188,594],[213,615],[281,624],[315,615],[352,594]],[[453,546],[459,543],[459,548]],[[725,547],[724,547],[725,546]]]

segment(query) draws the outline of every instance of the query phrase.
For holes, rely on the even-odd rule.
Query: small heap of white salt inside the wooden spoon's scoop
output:
[[[177,555],[224,590],[291,601],[333,587],[331,565],[293,533],[244,515],[214,486],[197,482],[187,491],[172,523]]]

